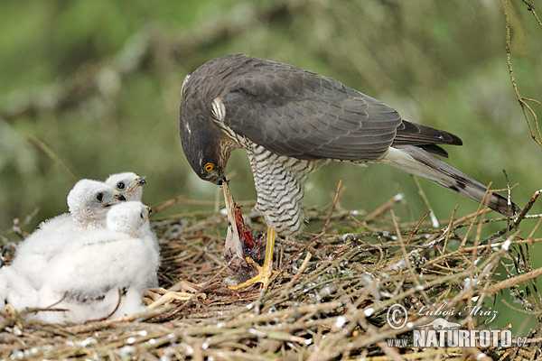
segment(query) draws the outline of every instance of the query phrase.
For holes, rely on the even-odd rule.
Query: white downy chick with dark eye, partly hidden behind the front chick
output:
[[[42,222],[17,248],[12,266],[38,290],[42,270],[54,255],[86,229],[106,227],[109,208],[124,200],[117,190],[98,180],[79,180],[68,194],[70,213]]]

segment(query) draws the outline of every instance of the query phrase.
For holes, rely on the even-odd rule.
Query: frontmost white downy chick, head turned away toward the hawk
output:
[[[107,229],[88,230],[51,259],[37,313],[49,322],[115,319],[146,310],[143,293],[156,278],[158,255],[138,235],[148,227],[141,202],[119,204],[107,215]],[[58,309],[64,311],[58,311]]]

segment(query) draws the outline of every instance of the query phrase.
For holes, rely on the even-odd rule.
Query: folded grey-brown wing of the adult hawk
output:
[[[224,123],[267,150],[300,159],[377,160],[401,117],[340,81],[267,61],[238,76]]]

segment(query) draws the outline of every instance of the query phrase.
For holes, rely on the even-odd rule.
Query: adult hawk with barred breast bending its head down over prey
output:
[[[241,284],[268,282],[276,232],[304,225],[300,201],[310,171],[329,160],[382,162],[480,202],[486,187],[441,161],[439,144],[456,135],[402,119],[397,111],[340,81],[244,55],[213,59],[182,84],[182,149],[202,180],[221,184],[229,154],[243,148],[254,175],[256,209],[266,219],[263,271]],[[518,211],[491,193],[489,207]]]

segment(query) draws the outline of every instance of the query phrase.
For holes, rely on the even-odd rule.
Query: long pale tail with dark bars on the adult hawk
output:
[[[477,202],[483,199],[487,187],[477,180],[473,180],[462,171],[458,171],[424,149],[413,145],[392,146],[381,162],[393,165],[400,170],[424,177],[441,186],[453,190],[464,197]],[[497,193],[491,192],[489,207],[504,216],[509,215],[508,200]],[[511,204],[512,213],[521,210],[514,203]]]

